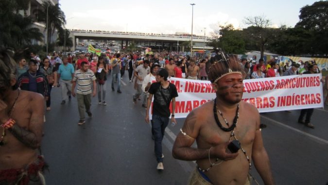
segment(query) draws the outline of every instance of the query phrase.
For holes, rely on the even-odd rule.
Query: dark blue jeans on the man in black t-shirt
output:
[[[163,162],[162,158],[162,141],[164,138],[165,128],[169,124],[169,117],[154,115],[152,118],[152,133],[155,137],[155,156],[158,163]]]

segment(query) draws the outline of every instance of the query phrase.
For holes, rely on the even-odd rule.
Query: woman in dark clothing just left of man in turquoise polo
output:
[[[51,104],[51,90],[52,90],[52,85],[55,82],[55,77],[54,77],[54,69],[53,66],[50,64],[50,60],[48,59],[48,57],[43,59],[43,67],[40,68],[40,72],[45,74],[48,80],[48,99],[46,101],[46,105],[47,105],[47,111],[50,111],[50,104]]]

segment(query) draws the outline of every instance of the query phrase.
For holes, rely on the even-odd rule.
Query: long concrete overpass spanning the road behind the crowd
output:
[[[70,30],[70,37],[73,38],[73,51],[75,50],[77,39],[121,40],[121,47],[123,47],[123,41],[125,41],[125,45],[132,42],[136,45],[166,47],[171,48],[171,50],[176,50],[178,43],[190,40],[190,36],[78,30]],[[193,49],[213,49],[212,47],[206,46],[206,43],[209,42],[208,38],[209,37],[194,36],[192,38],[192,42],[194,43]],[[183,51],[183,48],[180,48],[180,50]]]

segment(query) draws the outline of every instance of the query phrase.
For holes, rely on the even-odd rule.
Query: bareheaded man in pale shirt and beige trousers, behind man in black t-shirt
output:
[[[142,94],[143,101],[141,106],[144,108],[146,108],[147,94],[142,91],[142,81],[149,73],[149,60],[144,60],[143,64],[139,65],[134,72],[134,75],[137,77],[137,92],[133,95],[133,103],[137,103],[137,98]]]

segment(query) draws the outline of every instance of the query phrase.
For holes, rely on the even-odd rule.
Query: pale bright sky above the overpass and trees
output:
[[[66,28],[210,36],[219,25],[246,28],[245,17],[263,16],[272,27],[294,27],[299,11],[315,0],[59,0]],[[206,29],[204,29],[206,28]]]

